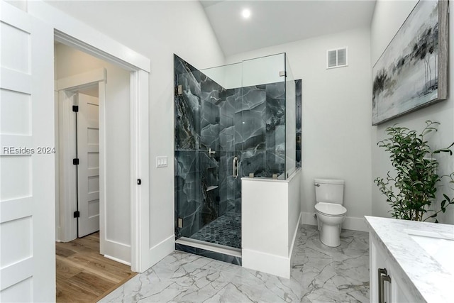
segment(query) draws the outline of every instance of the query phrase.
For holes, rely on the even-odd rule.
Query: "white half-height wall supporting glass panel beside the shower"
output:
[[[301,170],[287,180],[241,179],[243,267],[289,279],[300,219]]]

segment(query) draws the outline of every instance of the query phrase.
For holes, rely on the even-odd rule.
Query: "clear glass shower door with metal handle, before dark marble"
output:
[[[199,71],[175,56],[175,235],[240,248],[236,96],[221,84],[228,67],[219,68]]]

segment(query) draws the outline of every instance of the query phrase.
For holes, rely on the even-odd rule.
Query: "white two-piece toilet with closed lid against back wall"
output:
[[[326,246],[341,245],[341,228],[345,220],[343,204],[343,180],[315,179],[315,211],[320,241]]]

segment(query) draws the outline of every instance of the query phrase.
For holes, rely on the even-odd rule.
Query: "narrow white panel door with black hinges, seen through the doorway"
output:
[[[78,236],[99,231],[99,101],[78,94],[77,112],[77,205]]]

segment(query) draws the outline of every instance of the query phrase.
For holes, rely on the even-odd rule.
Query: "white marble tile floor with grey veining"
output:
[[[175,251],[100,302],[369,302],[368,233],[329,248],[303,225],[295,245],[290,279]]]

